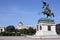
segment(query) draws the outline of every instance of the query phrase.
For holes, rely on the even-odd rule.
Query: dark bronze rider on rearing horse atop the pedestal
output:
[[[43,7],[42,7],[43,11],[42,13],[44,15],[48,17],[54,17],[54,14],[51,12],[51,9],[49,8],[49,4],[47,4],[46,2],[43,2]]]

